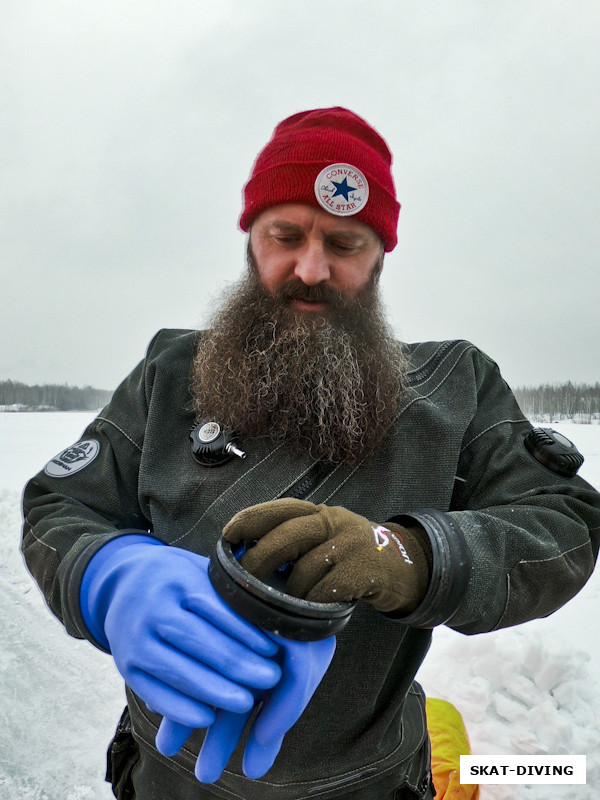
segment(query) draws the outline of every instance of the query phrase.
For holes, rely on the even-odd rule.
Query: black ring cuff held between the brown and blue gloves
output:
[[[269,633],[309,642],[338,633],[350,620],[355,602],[313,603],[286,594],[285,576],[275,572],[269,582],[255,578],[238,561],[226,539],[219,539],[208,575],[217,593],[234,611]]]

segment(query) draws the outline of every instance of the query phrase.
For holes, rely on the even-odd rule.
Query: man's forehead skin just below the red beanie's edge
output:
[[[257,229],[296,229],[304,233],[311,231],[327,235],[346,235],[377,241],[379,236],[372,228],[349,217],[336,217],[321,208],[302,203],[285,203],[263,211],[252,223]]]

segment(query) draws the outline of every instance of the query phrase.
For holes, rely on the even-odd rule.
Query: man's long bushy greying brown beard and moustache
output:
[[[290,307],[290,297],[307,295],[333,310]],[[376,286],[350,301],[299,283],[272,296],[251,273],[202,334],[191,389],[198,419],[355,464],[393,424],[405,374]]]

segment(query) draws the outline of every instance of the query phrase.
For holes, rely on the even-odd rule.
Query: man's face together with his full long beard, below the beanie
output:
[[[357,464],[394,423],[406,361],[379,301],[383,245],[305,205],[252,225],[248,272],[198,343],[198,420]]]

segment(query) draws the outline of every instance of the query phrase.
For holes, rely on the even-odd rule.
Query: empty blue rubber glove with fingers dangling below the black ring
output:
[[[296,642],[274,634],[268,636],[279,645],[277,660],[282,678],[270,692],[255,691],[262,702],[250,729],[243,769],[248,778],[261,778],[273,766],[287,731],[300,719],[317,686],[327,672],[335,651],[335,637],[318,642]],[[196,762],[196,778],[214,783],[235,750],[252,709],[245,713],[218,710],[206,731]],[[185,744],[193,728],[163,719],[156,737],[161,753],[173,756]]]

